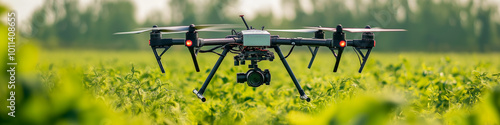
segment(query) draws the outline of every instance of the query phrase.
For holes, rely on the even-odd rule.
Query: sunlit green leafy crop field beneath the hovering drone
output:
[[[146,50],[30,51],[37,54],[19,57],[27,63],[20,65],[17,108],[29,120],[15,123],[500,124],[498,53],[375,49],[357,73],[358,59],[348,50],[334,73],[331,53],[319,53],[307,69],[311,55],[296,51],[287,60],[311,102],[299,99],[279,59],[259,63],[272,80],[254,88],[236,83],[236,73],[248,67],[233,66],[228,54],[201,102],[192,90],[205,81],[215,54],[199,54],[196,72],[188,51],[173,48],[162,58],[162,74]]]

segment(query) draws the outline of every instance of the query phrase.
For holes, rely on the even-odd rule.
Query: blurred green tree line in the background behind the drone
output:
[[[169,8],[147,15],[146,21],[135,19],[134,5],[129,0],[95,0],[86,8],[77,0],[46,0],[32,17],[26,36],[40,40],[45,47],[85,49],[142,49],[147,35],[111,35],[137,27],[152,25],[241,24],[232,12],[241,1],[197,0],[168,1]],[[407,32],[376,33],[380,51],[462,51],[491,52],[500,49],[500,17],[497,4],[486,0],[317,0],[312,10],[304,9],[302,0],[281,1],[292,8],[287,15],[262,12],[249,21],[260,28],[302,28],[303,26],[404,28]],[[165,14],[166,13],[166,14]],[[257,12],[256,12],[257,13]],[[165,17],[164,15],[169,15]],[[282,17],[282,18],[276,18]],[[28,30],[27,30],[28,31]],[[145,33],[147,34],[147,33]],[[219,33],[203,37],[223,37]],[[286,37],[312,37],[313,34],[283,34]],[[330,33],[329,33],[330,34]],[[166,36],[165,36],[166,37]],[[183,37],[172,35],[170,37]],[[331,35],[327,35],[331,38]],[[348,39],[359,39],[349,34]]]

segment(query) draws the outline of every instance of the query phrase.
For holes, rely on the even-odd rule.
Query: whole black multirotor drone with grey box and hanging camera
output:
[[[373,32],[387,32],[387,31],[406,31],[404,29],[381,29],[381,28],[371,28],[366,26],[365,28],[343,28],[342,25],[337,25],[335,28],[329,27],[305,27],[304,29],[270,29],[264,30],[255,29],[253,27],[248,27],[243,15],[240,15],[243,23],[245,24],[246,30],[241,30],[237,32],[236,30],[231,30],[231,35],[227,35],[225,38],[199,38],[198,31],[227,31],[220,30],[221,28],[228,28],[227,24],[212,24],[212,25],[194,25],[189,26],[171,26],[171,27],[158,27],[154,25],[152,28],[141,28],[138,31],[131,32],[118,32],[115,34],[138,34],[143,32],[149,32],[149,46],[153,50],[156,57],[156,61],[160,67],[162,73],[165,73],[163,65],[161,63],[161,57],[165,52],[174,45],[184,45],[188,48],[191,58],[194,63],[196,72],[200,72],[198,66],[197,55],[198,53],[215,53],[219,55],[219,59],[215,63],[215,66],[211,69],[210,74],[208,74],[205,82],[199,90],[194,89],[193,93],[201,99],[202,102],[206,101],[203,93],[206,91],[208,84],[212,80],[215,72],[219,68],[220,64],[224,60],[224,57],[230,52],[236,54],[234,56],[234,66],[245,65],[247,61],[249,70],[246,73],[237,73],[236,79],[237,83],[247,83],[251,87],[259,87],[263,84],[270,85],[271,73],[268,69],[262,70],[258,67],[257,63],[260,61],[273,61],[275,59],[274,53],[271,52],[270,48],[274,49],[274,52],[278,54],[279,59],[283,63],[285,69],[290,75],[295,87],[297,88],[300,99],[310,102],[311,99],[304,93],[304,90],[300,86],[297,78],[295,77],[292,69],[288,65],[286,58],[293,51],[295,46],[307,46],[312,54],[311,60],[309,61],[308,68],[311,68],[314,58],[318,53],[319,47],[327,47],[335,56],[336,62],[333,68],[333,72],[337,72],[342,53],[347,46],[352,46],[360,59],[359,73],[363,70],[366,60],[368,59],[370,52],[373,47],[375,47],[375,40]],[[314,33],[314,38],[280,38],[279,35],[271,35],[268,31],[275,32],[302,32],[302,33]],[[325,31],[333,32],[332,39],[325,39]],[[344,31],[362,33],[362,39],[358,40],[346,40]],[[186,33],[185,38],[162,38],[162,34],[172,34],[172,33]],[[280,46],[281,45],[291,45],[292,48],[290,52],[285,56],[283,55]],[[201,50],[204,46],[214,46],[208,50]],[[311,48],[314,47],[314,50]],[[159,53],[158,49],[163,49]],[[217,53],[214,50],[223,49],[222,53]],[[366,50],[365,53],[361,50]],[[361,58],[360,58],[361,57]]]

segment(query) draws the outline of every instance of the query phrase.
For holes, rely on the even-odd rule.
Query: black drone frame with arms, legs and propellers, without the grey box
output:
[[[245,23],[245,26],[247,30],[255,30],[252,28],[249,28],[248,25],[246,24],[246,21],[243,18],[243,15],[240,15],[242,18],[243,22]],[[153,50],[153,53],[155,55],[156,61],[158,62],[158,65],[162,71],[162,73],[165,73],[165,70],[163,68],[163,65],[161,63],[161,57],[165,52],[174,45],[184,45],[189,49],[189,52],[191,54],[191,57],[193,59],[193,63],[195,66],[195,69],[197,72],[200,71],[198,62],[197,62],[197,54],[199,52],[214,52],[213,50],[218,49],[218,48],[223,48],[222,53],[216,53],[219,55],[219,59],[215,63],[214,67],[210,70],[210,73],[208,74],[207,78],[205,79],[205,82],[201,86],[199,90],[194,89],[193,93],[196,94],[196,96],[201,99],[201,101],[205,102],[206,98],[203,96],[205,93],[208,84],[212,80],[213,76],[217,72],[217,69],[219,68],[220,64],[224,60],[224,58],[227,56],[228,52],[233,51],[233,48],[235,47],[242,47],[244,40],[243,37],[240,33],[237,33],[236,35],[228,35],[225,38],[198,38],[198,32],[196,31],[198,28],[194,25],[191,24],[189,27],[175,27],[175,28],[185,28],[187,30],[186,32],[186,38],[162,38],[162,31],[175,31],[173,29],[168,29],[168,28],[160,28],[157,27],[156,25],[153,26],[152,29],[150,29],[150,40],[149,40],[149,45],[151,46],[151,49]],[[262,28],[264,30],[264,28]],[[370,55],[370,52],[373,47],[375,47],[375,40],[374,40],[374,34],[373,32],[380,32],[380,31],[405,31],[402,29],[371,29],[371,27],[366,26],[364,29],[356,29],[356,28],[343,28],[342,25],[338,25],[336,28],[323,28],[323,27],[315,27],[313,28],[314,30],[314,38],[280,38],[278,35],[270,35],[270,45],[269,46],[261,46],[262,48],[273,48],[274,51],[278,54],[278,57],[280,58],[283,66],[287,70],[290,78],[292,79],[295,87],[297,88],[297,91],[300,94],[300,99],[306,100],[306,101],[311,101],[311,99],[305,94],[304,90],[302,89],[301,85],[299,84],[297,78],[295,77],[295,74],[293,73],[292,69],[288,65],[288,62],[286,60],[287,56],[284,56],[280,46],[281,45],[292,45],[293,47],[295,46],[308,46],[309,51],[312,54],[311,60],[308,64],[308,68],[311,68],[313,61],[316,57],[316,54],[318,53],[319,47],[328,47],[329,50],[332,52],[332,54],[335,57],[335,65],[333,72],[337,72],[338,66],[340,64],[340,59],[342,57],[342,53],[344,51],[344,48],[347,46],[352,46],[355,49],[355,52],[358,54],[358,58],[360,60],[360,68],[358,70],[359,73],[362,72],[363,67],[366,64],[366,61]],[[324,31],[332,31],[333,32],[333,38],[332,39],[325,39],[325,32]],[[116,33],[116,34],[129,34],[129,33],[140,33],[148,30],[141,30],[138,32],[123,32],[123,33]],[[235,32],[233,29],[231,32]],[[272,30],[271,30],[272,31]],[[282,30],[274,30],[274,31],[282,31]],[[311,31],[311,30],[309,30]],[[362,39],[360,40],[346,40],[345,39],[345,33],[343,31],[349,31],[349,32],[362,32]],[[201,47],[203,46],[216,46],[210,50],[200,50]],[[246,46],[244,46],[246,47]],[[290,50],[290,53],[293,50]],[[314,50],[311,48],[314,47]],[[163,49],[161,53],[159,53],[158,49]],[[363,53],[361,50],[367,50],[366,53]],[[267,50],[266,50],[267,51]],[[243,52],[243,50],[241,51]],[[240,54],[241,54],[240,52]],[[289,53],[289,54],[290,54]],[[272,53],[271,53],[272,54]],[[361,58],[360,58],[361,56]],[[272,57],[274,58],[274,56]],[[236,57],[235,57],[236,59]],[[270,60],[272,61],[272,59]],[[244,64],[244,62],[242,63]],[[235,62],[235,65],[238,65]],[[254,65],[254,60],[252,60],[252,65]],[[249,68],[257,68],[256,67],[256,62],[255,66],[251,67],[249,65]],[[260,69],[259,69],[260,70]],[[270,75],[270,74],[269,74]],[[270,77],[270,76],[269,76]],[[270,78],[269,78],[270,79]],[[268,83],[266,83],[268,84]],[[256,86],[254,86],[256,87]]]

